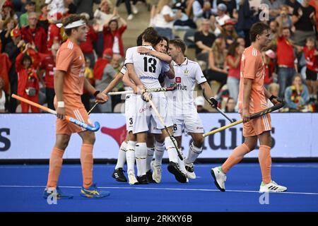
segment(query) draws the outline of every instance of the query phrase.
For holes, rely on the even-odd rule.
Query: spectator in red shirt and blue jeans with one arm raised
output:
[[[283,98],[285,88],[293,82],[293,76],[297,72],[295,64],[295,53],[292,41],[290,40],[290,28],[283,28],[283,22],[278,20],[277,36],[277,64],[279,97]]]

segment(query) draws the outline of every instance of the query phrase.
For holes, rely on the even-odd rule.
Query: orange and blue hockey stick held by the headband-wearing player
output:
[[[27,103],[27,104],[29,104],[29,105],[33,105],[33,106],[35,106],[35,107],[38,107],[38,108],[42,109],[42,110],[45,111],[45,112],[49,112],[49,113],[51,113],[51,114],[57,114],[57,112],[55,112],[55,111],[52,110],[52,109],[49,109],[48,107],[39,105],[39,104],[37,104],[37,103],[35,103],[35,102],[32,102],[32,101],[30,101],[30,100],[27,100],[27,99],[25,99],[25,98],[23,98],[23,97],[20,97],[20,96],[18,96],[18,95],[13,94],[13,95],[11,95],[11,97],[15,98],[16,100],[20,100],[20,101],[22,101],[22,102],[25,102],[25,103]],[[95,121],[94,127],[93,127],[93,126],[90,126],[90,125],[84,123],[83,121],[79,121],[78,119],[74,119],[74,118],[69,117],[69,116],[67,116],[67,115],[65,116],[65,119],[66,119],[66,121],[70,121],[71,123],[76,124],[76,125],[78,125],[78,126],[81,126],[81,127],[83,127],[84,129],[87,129],[87,130],[89,130],[89,131],[95,132],[95,131],[98,131],[98,130],[100,129],[100,124],[98,123],[98,121]]]

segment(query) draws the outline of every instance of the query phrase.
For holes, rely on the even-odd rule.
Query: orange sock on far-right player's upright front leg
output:
[[[259,146],[259,165],[261,166],[261,177],[265,184],[271,182],[271,147]]]

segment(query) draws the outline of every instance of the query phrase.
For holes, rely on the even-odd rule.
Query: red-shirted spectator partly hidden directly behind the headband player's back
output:
[[[41,62],[40,64],[40,76],[45,73],[45,95],[47,97],[47,107],[50,109],[54,108],[54,71],[57,59],[57,50],[59,49],[59,44],[55,43],[52,45],[51,54]]]

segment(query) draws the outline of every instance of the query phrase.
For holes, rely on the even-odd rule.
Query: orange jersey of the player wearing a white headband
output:
[[[65,71],[64,94],[82,95],[85,81],[85,58],[78,44],[67,40],[57,52],[56,70]]]

